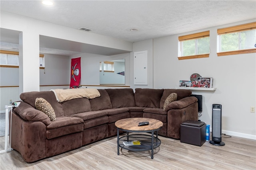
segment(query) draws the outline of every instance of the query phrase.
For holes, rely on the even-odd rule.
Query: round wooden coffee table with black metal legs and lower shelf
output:
[[[139,122],[148,121],[149,125],[138,126]],[[116,121],[117,127],[117,154],[119,155],[119,147],[126,150],[132,151],[145,151],[151,150],[151,159],[153,159],[154,149],[159,147],[161,144],[158,139],[158,130],[162,128],[162,121],[144,117],[127,118]],[[126,135],[119,137],[119,130],[127,132]],[[134,132],[135,134],[129,134]],[[148,133],[138,134],[138,133]],[[156,132],[156,136],[154,136]],[[137,133],[137,134],[136,134]]]

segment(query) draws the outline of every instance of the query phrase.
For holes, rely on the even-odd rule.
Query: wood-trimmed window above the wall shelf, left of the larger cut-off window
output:
[[[178,39],[180,41],[179,60],[209,57],[210,31],[183,35]]]

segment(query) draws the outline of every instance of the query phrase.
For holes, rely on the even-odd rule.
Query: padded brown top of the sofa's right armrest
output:
[[[196,97],[186,97],[186,98],[182,98],[180,100],[171,102],[170,104],[168,104],[168,106],[166,106],[165,111],[168,111],[170,109],[183,109],[185,107],[188,107],[194,103],[196,103],[198,101],[198,99]]]

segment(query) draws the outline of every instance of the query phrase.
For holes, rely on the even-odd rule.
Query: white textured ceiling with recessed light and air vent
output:
[[[54,0],[53,6],[41,2],[0,0],[0,9],[129,42],[256,18],[256,0]]]

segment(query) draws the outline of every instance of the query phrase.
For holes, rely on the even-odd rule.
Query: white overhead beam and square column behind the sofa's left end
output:
[[[94,33],[88,33],[49,23],[45,21],[35,20],[32,18],[10,14],[1,11],[1,28],[12,29],[21,31],[20,37],[20,55],[23,55],[23,59],[20,60],[20,92],[26,92],[31,90],[39,90],[39,69],[33,67],[30,73],[34,79],[30,79],[29,65],[38,64],[39,59],[35,59],[34,56],[39,55],[39,37],[40,35],[55,37],[59,39],[66,39],[70,41],[76,41],[80,43],[87,43],[91,45],[98,45],[102,47],[109,47],[114,49],[121,49],[126,51],[132,51],[132,43],[121,39],[115,39],[112,37],[106,37]],[[33,49],[33,50],[31,50]],[[24,62],[23,62],[24,61]],[[31,61],[31,62],[27,62]],[[23,63],[22,63],[23,62]],[[23,67],[24,65],[24,67]]]

